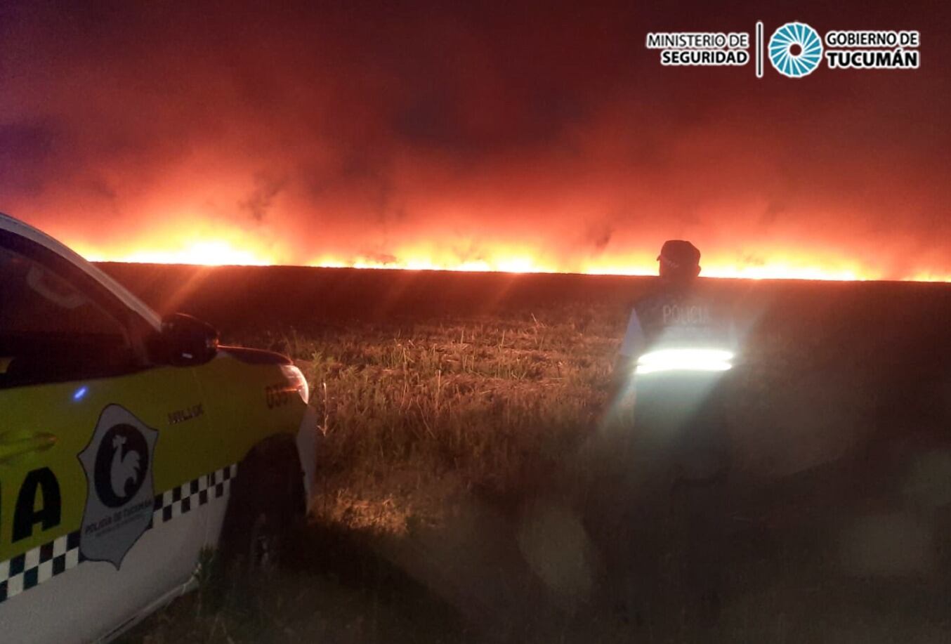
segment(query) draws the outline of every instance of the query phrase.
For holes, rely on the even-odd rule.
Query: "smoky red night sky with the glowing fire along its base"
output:
[[[946,3],[0,4],[0,211],[91,259],[951,280]],[[918,29],[917,70],[649,31]]]

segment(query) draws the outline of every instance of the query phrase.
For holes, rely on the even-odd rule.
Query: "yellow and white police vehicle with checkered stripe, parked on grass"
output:
[[[287,358],[165,320],[0,214],[0,638],[109,639],[205,548],[273,565],[305,512],[316,413]]]

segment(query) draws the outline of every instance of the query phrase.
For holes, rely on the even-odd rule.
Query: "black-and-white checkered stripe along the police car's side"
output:
[[[238,465],[228,465],[157,495],[148,527],[181,517],[212,498],[224,497],[237,475]],[[82,561],[85,557],[79,554],[78,530],[7,561],[0,561],[0,603],[75,568]]]

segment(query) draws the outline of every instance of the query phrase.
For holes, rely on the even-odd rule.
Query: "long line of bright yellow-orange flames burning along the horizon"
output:
[[[154,221],[154,220],[153,220]],[[306,254],[306,243],[280,227],[258,229],[229,226],[203,217],[165,219],[146,224],[121,237],[103,239],[97,231],[81,228],[50,229],[80,255],[93,262],[182,263],[199,265],[297,264],[315,267],[389,268],[506,273],[578,273],[588,275],[656,275],[657,248],[663,238],[639,241],[637,248],[605,248],[588,253],[567,246],[553,251],[544,241],[487,240],[456,235],[446,239],[438,230],[419,230],[411,243],[395,241],[377,254],[340,250],[359,247],[352,236],[329,239],[326,248]],[[101,231],[99,231],[101,232]],[[522,236],[524,238],[524,235]],[[692,239],[702,250],[704,277],[750,280],[828,280],[951,282],[943,270],[915,267],[905,274],[875,265],[841,247],[797,247],[742,240],[717,245],[703,235]],[[461,241],[460,241],[461,240]],[[805,245],[800,242],[799,244]],[[321,244],[323,245],[323,244]],[[301,248],[303,246],[304,249]],[[463,249],[463,250],[460,250]],[[935,261],[935,260],[932,260]],[[925,264],[926,266],[927,264]],[[898,273],[898,274],[896,274]]]

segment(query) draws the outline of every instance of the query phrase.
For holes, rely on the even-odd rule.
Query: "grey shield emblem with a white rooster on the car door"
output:
[[[110,404],[79,454],[87,479],[80,553],[118,570],[152,518],[152,461],[159,433],[125,407]]]

